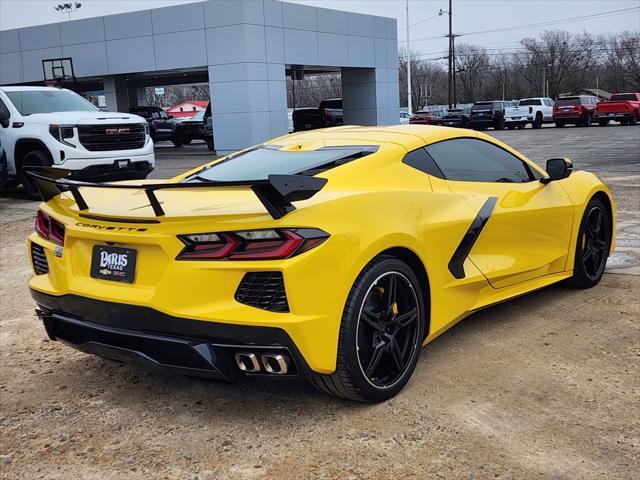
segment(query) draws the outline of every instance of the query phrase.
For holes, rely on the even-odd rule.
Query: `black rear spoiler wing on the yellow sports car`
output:
[[[80,211],[88,210],[89,206],[80,193],[80,188],[119,188],[128,190],[144,190],[149,199],[153,213],[157,217],[164,216],[162,205],[155,192],[169,189],[211,189],[225,187],[249,187],[258,200],[267,209],[272,218],[284,217],[296,209],[291,202],[307,200],[313,197],[326,185],[326,178],[306,175],[269,175],[266,180],[238,180],[232,182],[201,182],[201,183],[147,183],[121,184],[96,183],[74,180],[73,172],[53,167],[24,167],[24,175],[31,178],[45,202],[62,192],[69,191]]]

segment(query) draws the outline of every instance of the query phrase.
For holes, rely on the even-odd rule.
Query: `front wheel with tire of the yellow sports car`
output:
[[[592,198],[582,215],[576,245],[573,277],[575,288],[591,288],[600,282],[611,247],[611,219],[604,203]]]

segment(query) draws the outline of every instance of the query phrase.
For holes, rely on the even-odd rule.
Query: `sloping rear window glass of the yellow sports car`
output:
[[[315,175],[378,150],[377,146],[326,147],[305,151],[279,148],[282,147],[269,145],[232,155],[185,181],[234,182],[266,180],[269,175]]]

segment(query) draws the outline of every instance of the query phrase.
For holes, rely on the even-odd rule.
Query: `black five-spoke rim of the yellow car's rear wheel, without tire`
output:
[[[418,297],[407,277],[388,272],[371,285],[356,330],[358,365],[376,388],[390,388],[407,371],[416,351]]]

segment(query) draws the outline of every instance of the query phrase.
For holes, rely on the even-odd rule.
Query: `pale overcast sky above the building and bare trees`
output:
[[[158,8],[198,0],[80,1],[82,8],[72,14],[72,19]],[[57,0],[0,0],[0,30],[66,20],[66,15],[61,15],[53,9],[58,3]],[[398,19],[400,46],[405,44],[404,0],[296,0],[294,3],[395,17]],[[445,39],[432,37],[447,33],[447,17],[446,15],[437,16],[437,13],[441,8],[446,10],[448,4],[448,0],[409,1],[409,24],[417,24],[410,29],[411,49],[420,52],[423,58],[437,58],[447,48]],[[522,38],[537,36],[545,29],[561,29],[572,33],[580,33],[583,30],[591,33],[640,31],[639,7],[640,0],[454,0],[453,30],[454,33],[471,34],[484,30],[519,27],[629,9],[626,12],[608,16],[594,16],[552,25],[472,34],[457,40],[457,43],[474,43],[488,49],[508,50],[516,48]],[[434,18],[423,21],[429,17]]]

